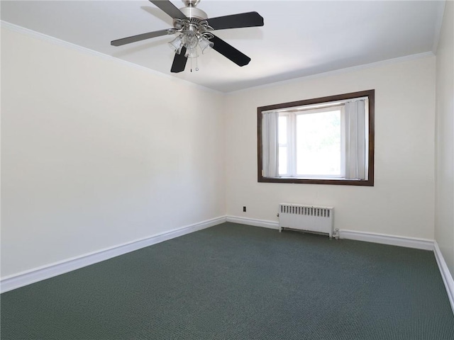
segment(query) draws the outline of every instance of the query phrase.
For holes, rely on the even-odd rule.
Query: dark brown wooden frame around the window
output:
[[[263,177],[262,176],[262,112],[270,110],[279,110],[283,108],[292,108],[297,106],[313,105],[318,103],[327,103],[330,101],[345,101],[353,98],[366,97],[369,99],[369,159],[368,172],[366,180],[350,179],[301,179],[293,177]],[[336,96],[327,96],[321,98],[306,99],[304,101],[292,101],[289,103],[280,103],[269,106],[260,106],[257,108],[257,144],[258,144],[258,181],[266,183],[308,183],[308,184],[336,184],[341,186],[374,186],[374,149],[375,149],[375,90],[352,92],[350,94],[339,94]]]

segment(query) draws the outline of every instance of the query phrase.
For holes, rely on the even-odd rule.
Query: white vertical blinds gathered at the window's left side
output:
[[[279,176],[278,112],[262,113],[262,176]]]

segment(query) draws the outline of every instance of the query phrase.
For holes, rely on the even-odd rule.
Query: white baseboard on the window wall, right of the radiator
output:
[[[341,239],[355,239],[357,241],[389,244],[392,246],[406,246],[423,250],[433,250],[432,239],[417,239],[413,237],[402,237],[387,234],[375,234],[373,232],[356,232],[353,230],[339,230]]]

